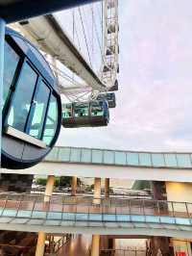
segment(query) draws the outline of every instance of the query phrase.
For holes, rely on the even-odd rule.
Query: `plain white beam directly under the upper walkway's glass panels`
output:
[[[14,169],[1,169],[2,173],[15,173]],[[63,162],[42,162],[27,169],[17,169],[18,174],[101,177],[129,180],[154,180],[192,182],[192,169],[184,168],[153,168],[137,166],[105,166],[73,164]]]

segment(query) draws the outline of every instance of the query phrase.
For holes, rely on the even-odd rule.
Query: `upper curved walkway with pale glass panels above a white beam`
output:
[[[192,182],[192,153],[55,147],[42,163],[17,173]]]

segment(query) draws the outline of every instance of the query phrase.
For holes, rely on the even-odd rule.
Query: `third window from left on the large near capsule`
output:
[[[50,90],[42,81],[38,85],[36,95],[34,97],[34,103],[30,119],[32,118],[31,124],[29,125],[29,134],[36,139],[41,139],[42,127],[47,110],[47,103],[49,100]]]

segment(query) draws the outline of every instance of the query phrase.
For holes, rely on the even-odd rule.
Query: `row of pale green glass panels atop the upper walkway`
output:
[[[107,166],[192,168],[192,153],[54,147],[45,161]]]

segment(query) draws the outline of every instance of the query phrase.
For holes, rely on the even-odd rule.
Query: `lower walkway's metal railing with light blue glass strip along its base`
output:
[[[0,218],[192,225],[192,203],[152,199],[0,194]]]

